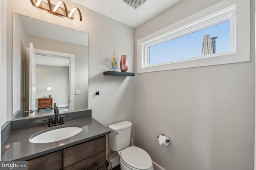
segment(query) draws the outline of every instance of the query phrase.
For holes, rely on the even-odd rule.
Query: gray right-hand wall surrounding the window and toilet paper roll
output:
[[[136,28],[135,42],[219,1],[183,0]],[[253,170],[253,19],[251,1],[250,62],[135,75],[136,145],[166,170]]]

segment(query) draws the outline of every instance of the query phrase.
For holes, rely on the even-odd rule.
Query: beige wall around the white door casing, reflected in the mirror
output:
[[[75,95],[74,108],[88,108],[88,46],[28,35],[27,45],[30,42],[36,49],[75,55],[75,90],[81,90],[81,94]]]

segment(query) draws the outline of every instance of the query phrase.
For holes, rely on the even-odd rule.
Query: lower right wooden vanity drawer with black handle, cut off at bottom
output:
[[[98,170],[106,166],[106,151],[95,156],[82,160],[64,170]]]

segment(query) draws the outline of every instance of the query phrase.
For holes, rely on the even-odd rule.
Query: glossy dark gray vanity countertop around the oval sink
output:
[[[58,125],[58,127],[65,125],[80,125],[83,130],[67,139],[50,143],[31,143],[29,141],[31,135],[52,128],[47,125],[11,132],[2,144],[2,160],[29,160],[110,133],[107,127],[92,117],[66,121],[64,125]]]

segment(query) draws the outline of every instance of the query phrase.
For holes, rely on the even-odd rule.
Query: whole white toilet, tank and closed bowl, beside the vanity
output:
[[[132,123],[121,121],[108,125],[109,147],[118,151],[121,170],[154,170],[149,154],[139,147],[129,147]]]

